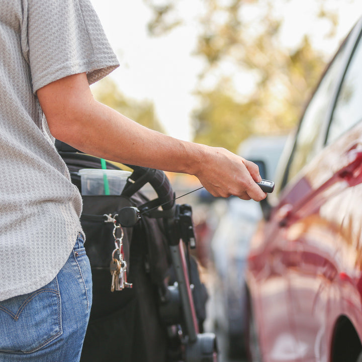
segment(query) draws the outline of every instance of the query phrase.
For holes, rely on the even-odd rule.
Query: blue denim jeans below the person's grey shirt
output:
[[[79,361],[91,305],[91,266],[79,234],[53,281],[0,302],[0,361]]]

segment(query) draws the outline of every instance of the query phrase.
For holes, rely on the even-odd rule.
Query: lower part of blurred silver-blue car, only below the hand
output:
[[[250,238],[260,218],[261,210],[256,202],[231,198],[212,239],[217,274],[212,315],[219,338],[223,339],[222,352],[233,358],[245,356],[246,351],[244,273]]]

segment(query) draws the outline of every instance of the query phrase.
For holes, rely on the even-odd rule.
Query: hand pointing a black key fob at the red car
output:
[[[237,196],[260,201],[266,194],[256,182],[261,181],[258,166],[224,148],[208,147],[206,158],[195,175],[215,197]]]

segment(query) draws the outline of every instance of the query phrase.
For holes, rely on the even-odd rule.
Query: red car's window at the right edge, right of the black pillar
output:
[[[338,94],[329,126],[327,143],[333,142],[342,133],[362,119],[362,41],[353,53]]]

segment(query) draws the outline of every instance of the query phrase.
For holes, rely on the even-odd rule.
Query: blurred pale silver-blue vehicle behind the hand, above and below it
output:
[[[247,159],[253,158],[263,167],[267,177],[274,179],[285,141],[285,136],[253,136],[240,144],[238,153]],[[258,203],[233,197],[227,201],[219,200],[217,209],[224,209],[224,213],[211,240],[217,274],[214,322],[223,334],[224,352],[240,358],[246,353],[243,341],[247,318],[244,283],[247,253],[262,213]]]

